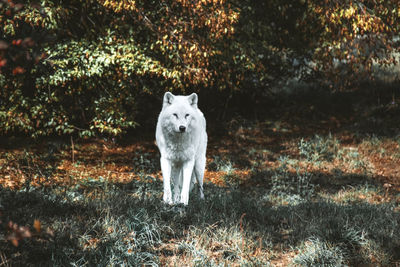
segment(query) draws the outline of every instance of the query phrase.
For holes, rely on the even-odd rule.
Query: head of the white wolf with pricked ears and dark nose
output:
[[[165,122],[168,123],[170,131],[185,133],[192,130],[192,122],[197,116],[197,94],[189,96],[173,95],[166,92],[164,95],[162,112]]]

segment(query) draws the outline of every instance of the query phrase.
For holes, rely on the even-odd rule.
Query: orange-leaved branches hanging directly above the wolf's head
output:
[[[217,44],[233,37],[239,20],[239,9],[232,8],[226,0],[167,0],[154,5],[142,0],[98,2],[132,19],[135,28],[148,34],[146,45],[171,70],[167,74],[158,72],[168,80],[168,86],[210,86],[214,73],[225,72],[220,65],[211,64],[210,59],[221,53],[223,45]],[[216,69],[219,70],[214,72]]]

